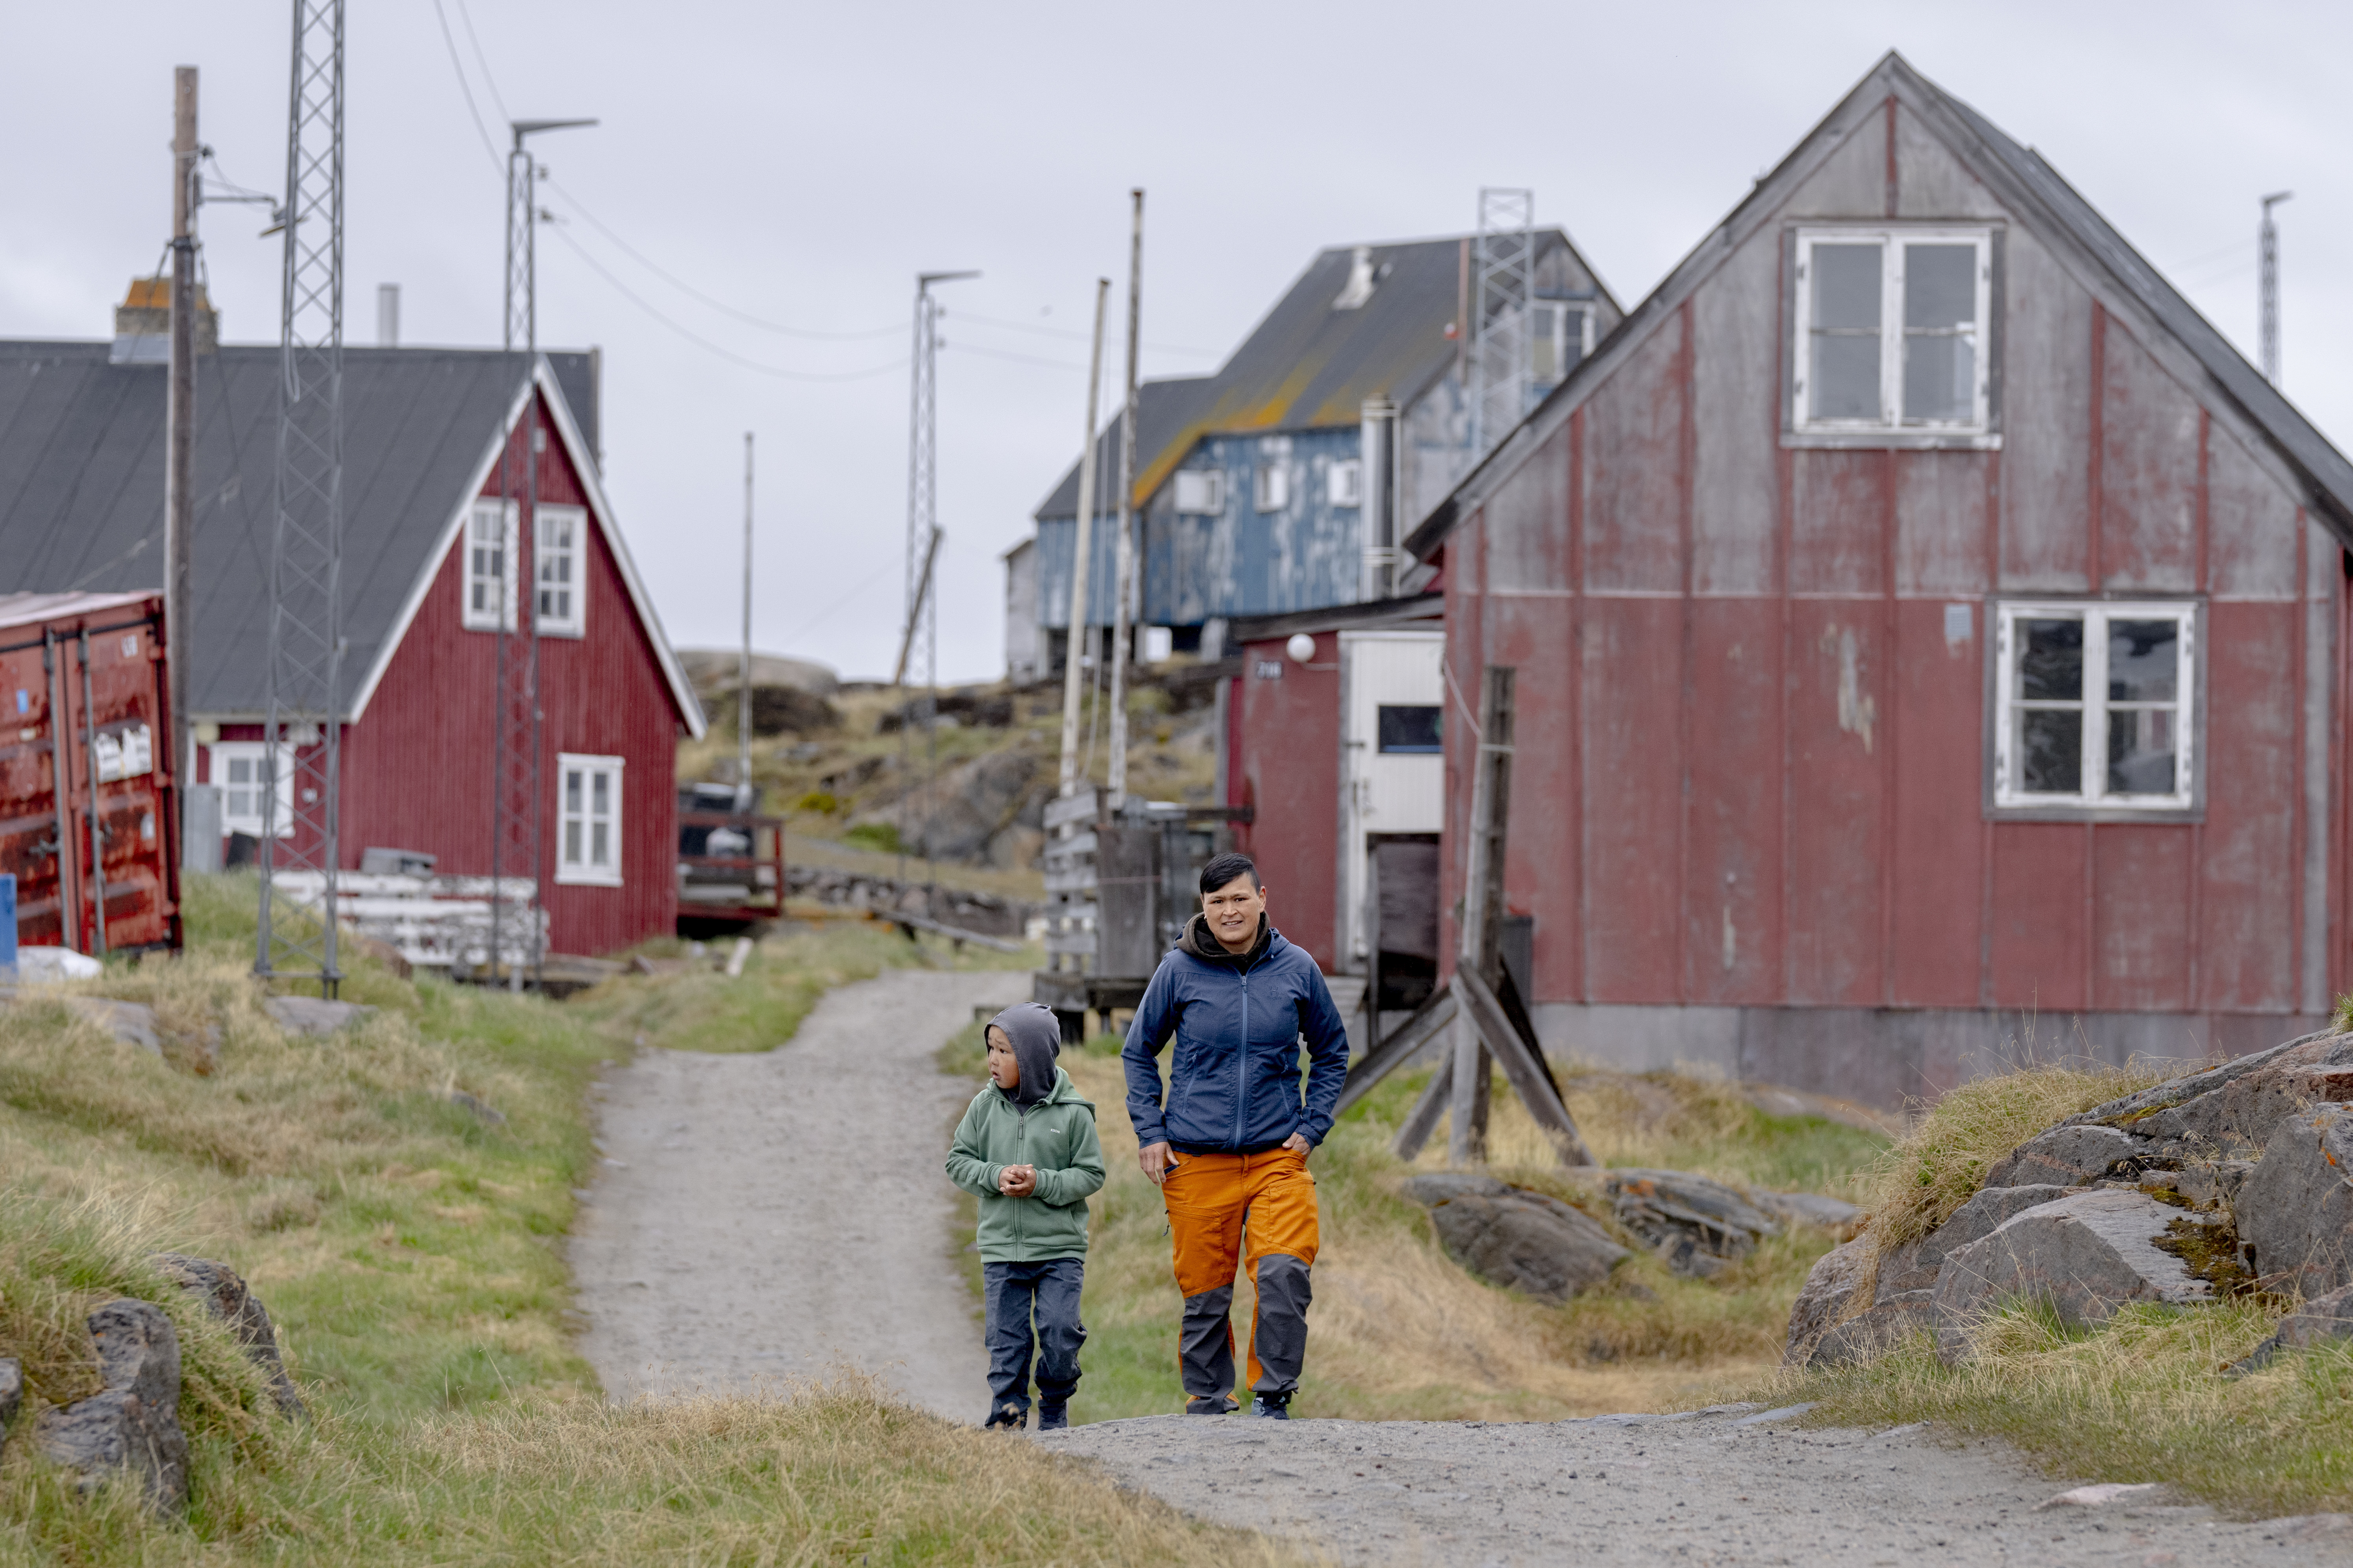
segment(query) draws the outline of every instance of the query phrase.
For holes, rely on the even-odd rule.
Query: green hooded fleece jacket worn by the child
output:
[[[1005,1166],[1038,1166],[1038,1194],[998,1192]],[[948,1180],[981,1199],[981,1262],[1085,1258],[1087,1199],[1104,1187],[1094,1103],[1061,1067],[1054,1088],[1031,1107],[988,1084],[955,1126]]]

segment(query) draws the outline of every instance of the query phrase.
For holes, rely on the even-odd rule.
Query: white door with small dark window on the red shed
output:
[[[1341,632],[1339,926],[1348,969],[1372,957],[1365,919],[1372,835],[1445,823],[1445,632]]]

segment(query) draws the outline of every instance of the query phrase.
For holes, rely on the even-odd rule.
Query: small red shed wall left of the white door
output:
[[[1259,665],[1282,668],[1261,679]],[[1235,825],[1233,842],[1259,863],[1266,917],[1287,940],[1334,973],[1339,886],[1339,632],[1315,637],[1315,656],[1292,663],[1282,639],[1242,644],[1235,682],[1238,759],[1226,783],[1228,804],[1257,806],[1280,832]]]

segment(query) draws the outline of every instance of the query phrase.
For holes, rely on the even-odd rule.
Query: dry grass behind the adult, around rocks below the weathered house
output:
[[[941,1053],[979,1086],[979,1032]],[[1111,1180],[1094,1199],[1087,1258],[1087,1375],[1073,1420],[1174,1410],[1176,1286],[1167,1215],[1136,1171],[1122,1110],[1118,1041],[1066,1051],[1064,1067],[1096,1103]],[[1609,1291],[1551,1307],[1485,1286],[1438,1251],[1421,1208],[1395,1194],[1414,1168],[1438,1168],[1445,1138],[1419,1166],[1388,1143],[1426,1072],[1400,1074],[1351,1107],[1315,1154],[1322,1253],[1315,1262],[1301,1415],[1409,1420],[1558,1420],[1704,1401],[1727,1380],[1755,1380],[1781,1349],[1791,1300],[1828,1246],[1819,1232],[1769,1241],[1713,1284],[1680,1279],[1638,1255]],[[1767,1187],[1852,1192],[1882,1140],[1817,1119],[1777,1119],[1729,1086],[1671,1074],[1572,1074],[1579,1126],[1617,1166],[1673,1166]],[[1595,1208],[1562,1178],[1537,1126],[1501,1091],[1489,1150],[1497,1175]],[[969,1211],[967,1211],[969,1213]],[[969,1237],[969,1229],[965,1232]],[[972,1255],[967,1267],[979,1274]],[[1249,1284],[1235,1321],[1249,1314]]]

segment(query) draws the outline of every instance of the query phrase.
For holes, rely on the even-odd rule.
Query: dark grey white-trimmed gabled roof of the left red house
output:
[[[541,388],[558,390],[548,400],[555,423],[595,491],[591,355],[541,362]],[[266,705],[278,367],[275,346],[231,346],[195,362],[191,715],[259,715]],[[365,703],[522,395],[520,355],[344,350],[346,703]],[[162,367],[108,364],[106,343],[0,341],[0,592],[160,588],[162,463]],[[626,548],[609,538],[671,668]],[[682,717],[699,729],[701,712],[673,670],[680,691]]]

